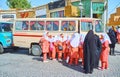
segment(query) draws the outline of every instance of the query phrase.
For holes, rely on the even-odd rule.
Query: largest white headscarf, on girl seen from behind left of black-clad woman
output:
[[[78,47],[79,46],[79,42],[80,42],[80,35],[78,33],[74,33],[72,35],[71,40],[70,40],[70,45],[72,47]]]

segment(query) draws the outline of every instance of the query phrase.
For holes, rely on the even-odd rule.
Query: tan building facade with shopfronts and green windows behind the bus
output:
[[[104,21],[104,24],[106,24],[107,20],[107,0],[81,0],[83,4],[83,12],[82,17],[90,17],[90,18],[100,18]],[[46,5],[38,6],[31,8],[30,10],[33,10],[35,15],[32,17],[36,18],[60,18],[60,17],[67,17],[66,12],[74,12],[78,13],[77,16],[72,15],[72,17],[80,17],[80,9],[79,9],[79,3],[80,0],[58,0],[55,2],[50,2]],[[72,5],[77,8],[77,10],[71,9],[71,11],[66,11],[65,7]],[[74,11],[72,11],[74,10]],[[28,10],[27,10],[28,11]],[[13,13],[14,12],[14,13]],[[19,11],[10,10],[10,11],[1,11],[0,12],[0,18],[7,18],[7,17],[13,17],[14,18],[29,18],[31,16],[28,15],[28,13],[24,14],[25,12],[19,13]],[[7,16],[8,14],[8,16]],[[20,14],[19,17],[17,17]],[[22,16],[26,15],[26,16]],[[28,15],[28,16],[27,16]]]

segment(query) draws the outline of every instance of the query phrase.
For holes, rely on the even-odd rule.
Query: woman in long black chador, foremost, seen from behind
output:
[[[97,50],[97,47],[95,45],[95,35],[93,31],[90,30],[85,37],[83,45],[85,73],[93,72],[95,52]]]

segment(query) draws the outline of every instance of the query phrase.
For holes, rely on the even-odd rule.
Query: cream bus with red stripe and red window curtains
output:
[[[15,19],[13,26],[14,46],[29,48],[29,53],[40,55],[40,38],[45,31],[51,35],[71,35],[75,32],[96,34],[105,31],[100,19],[95,18],[22,18]]]

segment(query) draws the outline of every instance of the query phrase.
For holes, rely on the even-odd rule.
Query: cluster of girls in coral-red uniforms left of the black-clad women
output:
[[[74,33],[72,36],[63,34],[52,36],[49,35],[49,32],[45,32],[40,40],[43,62],[48,62],[47,57],[49,57],[51,60],[66,60],[69,64],[74,62],[78,65],[78,60],[83,58],[84,38],[85,35],[78,33]]]

